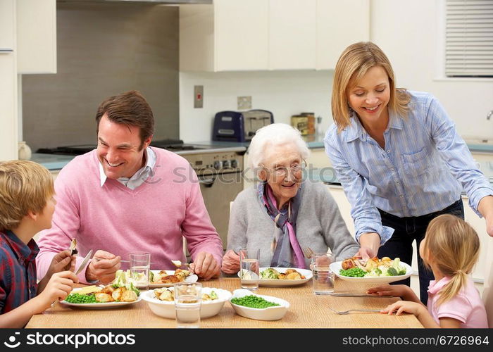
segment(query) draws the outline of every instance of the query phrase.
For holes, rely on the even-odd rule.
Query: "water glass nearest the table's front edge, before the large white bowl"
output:
[[[176,327],[200,327],[202,284],[180,282],[174,284]]]

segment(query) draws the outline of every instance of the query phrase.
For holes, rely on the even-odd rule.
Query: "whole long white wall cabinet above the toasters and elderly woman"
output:
[[[369,19],[369,0],[182,5],[180,70],[333,69],[346,46],[369,39]]]

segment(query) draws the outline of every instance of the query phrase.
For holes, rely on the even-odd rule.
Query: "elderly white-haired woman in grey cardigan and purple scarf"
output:
[[[358,244],[321,182],[303,180],[308,147],[298,130],[275,123],[251,139],[249,158],[259,182],[232,204],[223,272],[239,271],[238,249],[260,249],[260,265],[308,268],[302,248],[331,249],[337,260],[354,256]]]

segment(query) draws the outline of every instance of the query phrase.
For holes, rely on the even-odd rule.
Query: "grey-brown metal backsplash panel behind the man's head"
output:
[[[59,2],[56,15],[58,73],[23,75],[32,150],[95,144],[99,103],[131,89],[154,111],[154,139],[178,138],[178,8]]]

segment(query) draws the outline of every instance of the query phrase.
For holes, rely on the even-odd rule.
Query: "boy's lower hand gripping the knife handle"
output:
[[[77,282],[79,282],[79,279],[71,271],[55,272],[51,275],[46,287],[37,296],[41,303],[39,311],[46,310],[56,300],[63,301],[70,294],[70,291],[72,291],[74,283]]]

